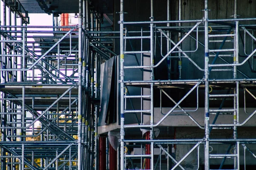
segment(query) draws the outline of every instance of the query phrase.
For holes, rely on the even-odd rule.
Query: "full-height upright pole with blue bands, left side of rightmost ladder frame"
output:
[[[204,169],[209,170],[209,47],[208,47],[208,0],[205,0],[204,8],[204,81],[205,81],[205,153]]]

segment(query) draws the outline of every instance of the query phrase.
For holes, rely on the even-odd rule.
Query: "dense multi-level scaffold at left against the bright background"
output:
[[[2,1],[1,169],[98,170],[100,64],[115,55],[93,38],[100,14],[80,0],[77,26],[28,26],[19,0]]]

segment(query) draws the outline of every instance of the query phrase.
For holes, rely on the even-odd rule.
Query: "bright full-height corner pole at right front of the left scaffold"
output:
[[[81,128],[82,128],[82,0],[79,0],[79,65],[78,65],[78,170],[81,170]]]

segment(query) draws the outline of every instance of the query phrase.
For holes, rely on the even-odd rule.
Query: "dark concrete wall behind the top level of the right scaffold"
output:
[[[238,0],[238,14],[241,15],[239,18],[253,18],[256,16],[256,11],[254,8],[256,7],[255,1],[249,1],[249,0]],[[115,2],[116,11],[119,12],[119,0],[116,0]],[[125,0],[124,1],[124,11],[127,12],[125,14],[124,20],[125,21],[149,21],[150,17],[150,3],[146,0]],[[232,19],[232,15],[234,14],[234,0],[209,0],[209,19]],[[182,20],[201,20],[204,17],[204,1],[203,0],[182,0]],[[178,20],[178,0],[171,0],[171,19],[172,20]],[[119,24],[117,23],[119,20],[119,14],[115,15],[115,29],[119,30]],[[154,0],[154,20],[167,20],[167,0]],[[230,22],[232,23],[232,22]],[[255,21],[249,21],[249,22],[240,22],[239,24],[254,24]],[[183,24],[183,26],[194,26],[195,23],[187,23]],[[166,24],[157,24],[156,26],[166,26]],[[176,24],[172,24],[172,26],[177,26]],[[200,25],[204,29],[203,23]],[[216,24],[209,23],[209,26],[216,26]],[[220,25],[221,26],[221,25]],[[143,30],[148,30],[148,25],[137,25],[137,26],[125,26],[128,31],[140,31],[141,28]],[[228,28],[216,30],[213,28],[212,33],[210,34],[226,34]],[[183,32],[186,33],[187,31]],[[250,31],[252,33],[252,31]],[[196,36],[195,33],[192,33],[194,37]],[[239,37],[243,39],[244,32],[241,30],[242,37]],[[160,36],[160,34],[159,34]],[[250,54],[252,51],[252,39],[248,39],[246,41],[247,46],[247,53]],[[221,38],[223,40],[223,38]],[[221,39],[212,39],[212,40],[221,40]],[[231,37],[228,37],[228,40],[231,40]],[[172,32],[172,40],[174,40],[177,43],[177,31]],[[159,39],[160,41],[160,39]],[[163,54],[166,54],[166,40],[163,40]],[[204,43],[204,33],[199,33],[199,41]],[[129,42],[128,42],[129,44]],[[134,48],[134,50],[138,50],[140,48],[140,41],[132,40],[131,44]],[[192,40],[191,38],[187,38],[182,43],[182,49],[183,51],[190,51],[195,50],[195,40]],[[210,43],[209,48],[211,49],[218,49],[221,43]],[[243,45],[240,42],[240,55],[244,56],[244,49]],[[149,47],[149,41],[144,41],[144,48]],[[131,49],[130,45],[127,45],[128,49]],[[226,42],[223,49],[225,48],[233,48],[232,42]],[[119,53],[119,40],[115,40],[115,50],[117,53]],[[155,61],[159,61],[162,57],[160,54],[160,46],[158,44],[158,41],[156,42],[156,59]],[[222,54],[232,54],[231,53],[222,53]],[[177,54],[173,54],[177,55]],[[196,52],[187,53],[189,57],[193,59],[201,68],[204,68],[204,47],[199,45],[198,50]],[[212,62],[213,57],[210,58],[210,63]],[[233,62],[233,56],[226,58],[227,61]],[[243,61],[244,57],[240,57],[239,61]],[[173,71],[177,72],[177,59],[172,59],[172,67]],[[217,63],[223,63],[220,59],[217,60]],[[251,60],[252,64],[252,60]],[[191,62],[189,62],[188,59],[183,59],[182,62],[182,79],[201,79],[204,76],[203,71],[199,71],[198,68],[196,68]],[[249,77],[255,77],[255,73],[252,73],[249,68],[248,62],[246,62],[243,66],[238,67],[241,71],[244,72]],[[156,79],[167,79],[167,68],[166,63],[163,63],[160,65],[160,68],[156,69]],[[189,74],[187,74],[189,73]],[[238,74],[239,78],[244,78],[241,74]],[[177,79],[177,75],[172,76],[173,79]],[[211,73],[210,78],[215,79],[223,79],[223,78],[233,78],[232,71],[230,72],[215,72]]]

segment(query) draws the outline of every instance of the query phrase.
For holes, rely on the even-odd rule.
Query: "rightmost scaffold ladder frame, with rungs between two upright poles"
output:
[[[235,9],[235,15],[236,15],[236,9]],[[233,170],[239,170],[240,162],[239,162],[239,142],[235,142],[234,144],[230,144],[230,147],[227,149],[226,153],[217,153],[211,154],[214,149],[212,146],[210,146],[211,142],[209,142],[209,134],[211,130],[214,129],[233,129],[233,139],[237,139],[237,124],[239,124],[239,82],[235,81],[232,88],[229,88],[226,94],[211,94],[212,87],[209,86],[209,75],[212,68],[218,68],[215,69],[215,71],[233,71],[233,79],[237,78],[237,65],[239,63],[239,21],[235,21],[234,24],[234,31],[231,32],[232,27],[229,28],[227,31],[227,34],[209,34],[211,31],[208,31],[208,4],[207,1],[205,3],[205,18],[206,18],[206,24],[205,24],[205,80],[206,80],[206,89],[205,89],[205,122],[206,122],[206,144],[205,144],[205,169],[210,169],[210,160],[211,159],[222,159],[222,163],[220,165],[220,168],[224,165],[224,162],[226,159],[233,159]],[[236,17],[235,17],[236,18]],[[211,28],[212,30],[212,28]],[[224,40],[219,40],[218,38],[224,38]],[[227,38],[233,38],[233,40],[227,40]],[[217,38],[218,40],[214,40],[214,38]],[[209,49],[209,43],[218,43],[222,42],[220,47],[218,49]],[[225,48],[222,49],[225,42],[233,42],[232,48]],[[213,53],[214,55],[212,55]],[[231,53],[231,54],[230,54]],[[212,64],[209,64],[209,57],[215,57],[212,61]],[[232,57],[233,63],[230,64],[218,64],[215,63],[216,59],[218,57]],[[232,67],[232,68],[230,68]],[[210,89],[211,88],[211,89]],[[230,94],[230,90],[233,89],[233,93]],[[212,99],[223,99],[220,108],[209,108],[210,107],[210,101]],[[232,108],[223,108],[224,101],[229,98],[233,100],[233,107]],[[209,115],[215,115],[215,119],[213,119],[212,123],[209,122]],[[230,118],[230,115],[232,115],[231,121],[233,123],[224,124],[221,122],[217,122],[217,118],[219,115],[225,116],[227,119]],[[225,120],[227,120],[225,119]],[[217,122],[217,123],[216,123]],[[220,144],[225,144],[221,143]],[[233,148],[232,148],[233,147]],[[211,150],[209,149],[211,148]],[[231,149],[232,148],[232,149]],[[233,153],[231,152],[233,150]]]

